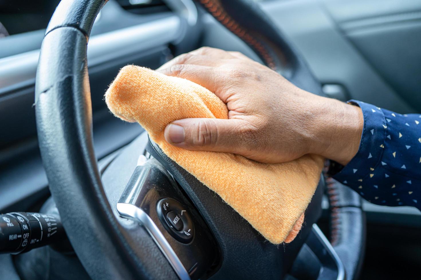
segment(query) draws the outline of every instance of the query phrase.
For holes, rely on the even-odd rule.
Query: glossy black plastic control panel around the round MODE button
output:
[[[139,144],[135,142],[128,149],[134,150]],[[132,156],[139,156],[139,150]],[[155,222],[192,279],[209,276],[213,272],[211,268],[219,261],[218,244],[165,168],[157,160],[150,159],[135,168],[128,182],[119,203],[136,205]],[[168,225],[166,215],[169,212],[180,215],[184,222],[182,231]]]

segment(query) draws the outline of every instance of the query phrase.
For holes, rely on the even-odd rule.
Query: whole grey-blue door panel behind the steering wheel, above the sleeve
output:
[[[323,84],[341,84],[349,98],[399,113],[421,110],[421,1],[287,0],[262,7]]]

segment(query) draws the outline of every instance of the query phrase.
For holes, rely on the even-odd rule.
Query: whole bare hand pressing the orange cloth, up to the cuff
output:
[[[358,151],[359,107],[320,97],[240,52],[203,47],[157,69],[204,86],[226,103],[228,120],[190,118],[165,128],[165,139],[190,150],[229,152],[279,163],[320,154],[346,165]]]

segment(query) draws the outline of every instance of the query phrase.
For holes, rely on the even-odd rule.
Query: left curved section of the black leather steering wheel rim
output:
[[[108,254],[109,262],[102,273],[95,270],[99,273],[96,277],[135,279],[147,275],[147,271],[127,254],[131,248],[119,234],[120,225],[104,194],[93,152],[86,47],[94,19],[104,4],[104,0],[61,1],[56,8],[37,68],[37,133],[51,194],[78,257],[84,262]],[[78,203],[79,210],[76,206],[68,211],[68,199]],[[83,226],[81,222],[87,223],[93,233],[86,236],[86,241],[101,244],[87,255],[74,242],[77,233],[73,228]],[[87,271],[92,276],[93,271]]]

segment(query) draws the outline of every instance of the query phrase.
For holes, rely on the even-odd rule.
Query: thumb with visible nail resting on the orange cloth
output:
[[[170,123],[164,137],[183,149],[243,154],[246,129],[245,121],[239,119],[189,118]]]

